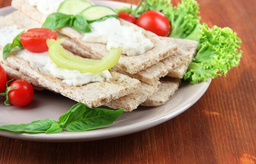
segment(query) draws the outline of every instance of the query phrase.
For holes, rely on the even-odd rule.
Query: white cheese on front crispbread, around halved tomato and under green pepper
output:
[[[0,28],[0,46],[4,47],[6,44],[11,43],[12,40],[23,29],[18,29],[16,26],[1,27]],[[23,60],[29,62],[33,69],[38,69],[40,72],[49,73],[55,78],[59,78],[69,86],[82,86],[90,82],[104,82],[112,78],[108,70],[100,73],[81,73],[76,70],[67,70],[58,67],[49,58],[48,52],[32,53],[26,49],[16,51],[15,55]]]

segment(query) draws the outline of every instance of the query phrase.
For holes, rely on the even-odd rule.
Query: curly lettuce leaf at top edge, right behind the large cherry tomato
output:
[[[199,4],[195,0],[182,0],[171,9],[169,19],[172,25],[170,37],[199,41]]]

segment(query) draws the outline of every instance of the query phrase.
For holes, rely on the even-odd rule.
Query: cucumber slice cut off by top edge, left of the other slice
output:
[[[77,15],[84,9],[92,6],[92,4],[86,0],[65,0],[58,7],[58,13]]]

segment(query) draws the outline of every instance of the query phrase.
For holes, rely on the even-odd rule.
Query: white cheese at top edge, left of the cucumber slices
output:
[[[36,7],[38,11],[48,16],[56,13],[58,7],[64,0],[29,0],[29,5]]]

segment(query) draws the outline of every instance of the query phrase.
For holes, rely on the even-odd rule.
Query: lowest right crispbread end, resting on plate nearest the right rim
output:
[[[161,85],[157,92],[151,95],[142,106],[159,106],[165,104],[169,98],[177,91],[180,85],[178,78],[163,78],[160,80]]]

